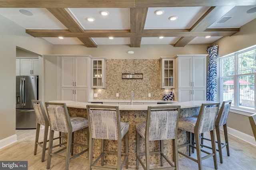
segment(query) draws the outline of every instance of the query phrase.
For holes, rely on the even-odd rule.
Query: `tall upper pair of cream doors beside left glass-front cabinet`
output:
[[[88,88],[88,57],[61,57],[61,87]]]

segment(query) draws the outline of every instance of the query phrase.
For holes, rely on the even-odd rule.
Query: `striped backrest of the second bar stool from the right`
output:
[[[202,104],[198,120],[196,121],[196,127],[198,127],[199,133],[214,130],[219,105],[219,102],[214,104]]]

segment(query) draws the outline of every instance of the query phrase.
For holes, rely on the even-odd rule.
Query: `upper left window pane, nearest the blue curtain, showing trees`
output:
[[[234,55],[222,59],[222,76],[234,75]]]

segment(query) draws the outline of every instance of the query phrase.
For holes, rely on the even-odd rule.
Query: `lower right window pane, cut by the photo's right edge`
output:
[[[239,107],[254,108],[254,74],[238,76]]]

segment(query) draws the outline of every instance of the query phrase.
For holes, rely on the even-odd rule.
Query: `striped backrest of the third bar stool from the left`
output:
[[[89,129],[93,139],[118,140],[121,137],[118,106],[92,106],[89,109]],[[114,109],[114,110],[113,110]]]

